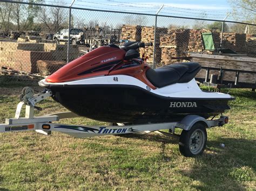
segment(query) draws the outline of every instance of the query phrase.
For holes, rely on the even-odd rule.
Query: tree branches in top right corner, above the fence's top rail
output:
[[[233,8],[233,16],[245,22],[256,23],[256,2],[255,0],[229,0]]]

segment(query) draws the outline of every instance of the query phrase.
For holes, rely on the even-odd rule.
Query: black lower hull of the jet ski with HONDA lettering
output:
[[[53,99],[70,111],[104,122],[172,122],[186,115],[204,118],[227,109],[231,98],[165,97],[131,85],[52,86]]]

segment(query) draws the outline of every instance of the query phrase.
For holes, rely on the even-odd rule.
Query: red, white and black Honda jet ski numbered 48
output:
[[[178,63],[152,69],[139,48],[152,43],[110,44],[69,62],[39,86],[73,113],[111,123],[173,122],[186,115],[205,119],[230,109],[228,94],[201,90],[201,66]]]

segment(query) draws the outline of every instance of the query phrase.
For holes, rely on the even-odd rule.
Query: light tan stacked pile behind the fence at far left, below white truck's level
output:
[[[38,40],[32,37],[30,40]],[[28,38],[21,38],[28,39]],[[19,43],[0,41],[0,66],[7,66],[25,72],[37,72],[37,60],[63,60],[67,58],[67,45],[53,43]],[[70,45],[70,60],[79,56],[77,45]]]

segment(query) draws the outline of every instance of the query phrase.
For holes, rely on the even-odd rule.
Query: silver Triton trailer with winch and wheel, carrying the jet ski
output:
[[[116,123],[110,126],[87,126],[60,124],[58,122],[64,118],[80,117],[72,112],[59,112],[45,116],[34,116],[34,110],[42,110],[36,106],[38,102],[50,97],[52,92],[44,90],[34,95],[34,90],[25,87],[19,96],[21,102],[18,103],[14,118],[6,118],[5,123],[0,124],[0,133],[12,131],[36,131],[44,135],[51,135],[53,131],[62,132],[73,137],[87,138],[107,135],[127,135],[130,133],[144,135],[150,132],[157,132],[164,136],[179,139],[179,150],[185,157],[194,157],[204,152],[207,142],[206,129],[215,126],[223,126],[228,123],[227,116],[220,116],[218,119],[206,120],[197,115],[187,115],[181,121],[167,123],[146,123],[146,124],[126,124]],[[21,117],[21,111],[25,106],[25,117]],[[180,135],[176,134],[176,129],[181,129]],[[169,132],[163,130],[169,130]]]

